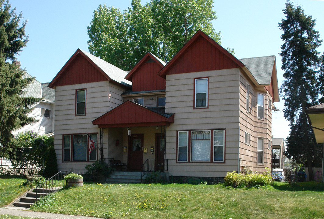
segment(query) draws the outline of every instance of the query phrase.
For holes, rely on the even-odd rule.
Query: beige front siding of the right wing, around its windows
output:
[[[225,177],[228,171],[237,171],[239,75],[238,68],[167,75],[166,113],[175,113],[174,123],[166,132],[171,175]],[[208,77],[208,108],[193,109],[194,78],[201,77]],[[177,130],[199,129],[226,129],[225,163],[176,163]]]

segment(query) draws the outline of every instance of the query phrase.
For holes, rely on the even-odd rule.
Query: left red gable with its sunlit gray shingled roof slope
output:
[[[81,49],[77,49],[48,87],[99,81],[112,81],[127,88],[131,82],[124,79],[125,71]]]

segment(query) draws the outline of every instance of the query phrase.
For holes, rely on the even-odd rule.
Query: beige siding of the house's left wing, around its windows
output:
[[[75,90],[86,91],[86,115],[75,116]],[[85,166],[90,162],[62,162],[62,138],[65,134],[98,133],[100,141],[100,128],[92,121],[107,113],[122,103],[121,93],[124,88],[109,81],[92,82],[57,86],[55,89],[55,133],[54,148],[56,150],[59,170],[73,168],[75,172],[83,173]],[[99,154],[99,150],[97,150]],[[71,151],[72,153],[72,151]],[[108,129],[104,129],[103,136],[104,158],[108,158]]]

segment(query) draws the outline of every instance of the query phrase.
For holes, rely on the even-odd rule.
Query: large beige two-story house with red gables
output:
[[[59,170],[99,158],[214,179],[271,168],[274,56],[238,60],[199,30],[168,63],[148,52],[130,72],[77,49],[48,86]]]

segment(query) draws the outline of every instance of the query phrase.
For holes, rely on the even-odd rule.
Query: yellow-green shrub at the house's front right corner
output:
[[[233,188],[236,187],[260,187],[260,186],[267,186],[272,184],[272,177],[269,174],[269,171],[266,171],[262,174],[259,173],[249,173],[249,174],[242,174],[233,172],[227,172],[224,181],[225,186],[231,186]]]

